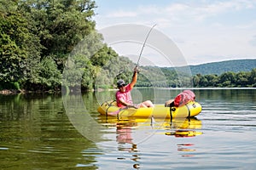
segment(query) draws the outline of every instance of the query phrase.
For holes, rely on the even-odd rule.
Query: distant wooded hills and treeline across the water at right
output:
[[[189,67],[193,76],[195,76],[195,87],[256,87],[254,81],[255,70],[253,70],[256,69],[256,59],[227,60],[202,65],[189,65]],[[176,68],[141,66],[140,68],[142,74],[138,77],[137,87],[176,88],[181,85],[191,85],[190,75],[188,74],[189,72],[187,72],[189,71],[188,66]],[[227,73],[229,71],[234,74]],[[234,78],[235,75],[241,71],[246,73],[239,74],[238,77]],[[224,73],[227,74],[221,77]],[[217,75],[217,77],[213,75]],[[230,80],[232,80],[232,82]]]

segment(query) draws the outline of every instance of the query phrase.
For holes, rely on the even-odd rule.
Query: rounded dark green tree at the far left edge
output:
[[[29,31],[22,15],[9,13],[0,19],[0,81],[25,81],[31,68],[27,60],[38,57],[37,37]]]

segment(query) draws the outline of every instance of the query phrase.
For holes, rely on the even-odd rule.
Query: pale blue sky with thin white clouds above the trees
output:
[[[96,21],[97,30],[121,24],[148,28],[156,24],[154,29],[176,44],[188,65],[256,59],[255,0],[95,1],[97,8],[93,20]],[[113,49],[121,55],[138,55],[141,45],[137,52],[127,52],[134,45],[113,45]],[[148,56],[150,62],[165,66],[165,61],[155,57],[157,54],[153,51],[145,48],[143,58]]]

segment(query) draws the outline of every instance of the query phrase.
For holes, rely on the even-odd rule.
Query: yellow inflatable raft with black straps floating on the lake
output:
[[[195,101],[179,107],[165,107],[165,105],[154,105],[154,108],[120,108],[116,105],[116,101],[107,101],[99,106],[98,112],[106,116],[116,117],[192,117],[197,116],[201,112],[201,105]]]

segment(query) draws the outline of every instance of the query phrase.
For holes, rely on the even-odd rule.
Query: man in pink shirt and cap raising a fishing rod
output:
[[[134,85],[137,82],[137,72],[138,72],[138,67],[136,66],[134,68],[133,72],[133,77],[132,80],[129,84],[125,84],[124,80],[119,80],[117,82],[117,86],[119,88],[119,91],[116,92],[115,97],[116,97],[116,102],[119,107],[135,107],[135,108],[140,108],[140,107],[154,107],[153,103],[150,100],[143,101],[140,104],[133,105],[132,99],[131,99],[131,90],[134,87]]]

